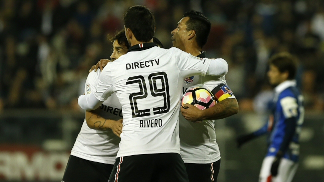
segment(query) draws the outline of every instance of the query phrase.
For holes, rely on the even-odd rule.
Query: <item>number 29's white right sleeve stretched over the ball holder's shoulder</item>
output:
[[[176,57],[175,63],[178,66],[181,75],[187,78],[192,75],[225,75],[228,71],[227,63],[224,59],[199,58],[186,53],[178,48],[169,49],[171,54]]]

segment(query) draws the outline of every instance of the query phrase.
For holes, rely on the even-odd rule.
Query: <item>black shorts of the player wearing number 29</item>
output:
[[[180,154],[142,154],[116,159],[109,182],[189,182]]]

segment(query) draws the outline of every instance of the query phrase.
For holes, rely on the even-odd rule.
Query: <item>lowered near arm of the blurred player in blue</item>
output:
[[[277,176],[278,174],[278,168],[281,158],[284,156],[289,147],[289,144],[293,140],[298,120],[298,103],[296,98],[284,97],[280,100],[280,104],[283,109],[282,112],[285,116],[286,129],[283,142],[281,143],[279,151],[277,152],[275,160],[271,166],[272,176]]]

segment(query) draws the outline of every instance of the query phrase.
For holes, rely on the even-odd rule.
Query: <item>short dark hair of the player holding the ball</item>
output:
[[[183,17],[189,17],[189,20],[186,22],[187,31],[195,30],[197,44],[200,48],[203,48],[211,28],[209,19],[202,12],[195,10],[185,12]]]

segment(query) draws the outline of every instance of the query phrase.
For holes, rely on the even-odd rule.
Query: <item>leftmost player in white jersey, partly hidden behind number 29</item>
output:
[[[124,30],[118,32],[111,41],[113,52],[110,58],[114,61],[128,51],[129,44]],[[89,73],[85,95],[95,91],[100,74],[100,70]],[[71,151],[62,181],[107,182],[119,150],[120,138],[117,136],[121,129],[122,112],[116,94],[112,94],[98,109],[86,111],[85,121]]]

